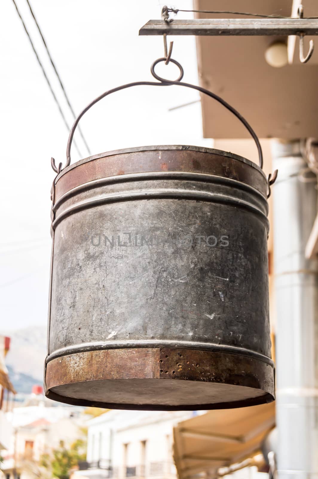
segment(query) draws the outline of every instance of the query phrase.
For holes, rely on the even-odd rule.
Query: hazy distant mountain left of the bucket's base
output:
[[[11,337],[10,351],[5,359],[11,382],[18,392],[29,393],[33,384],[43,382],[46,326],[30,326],[6,332],[6,335]]]

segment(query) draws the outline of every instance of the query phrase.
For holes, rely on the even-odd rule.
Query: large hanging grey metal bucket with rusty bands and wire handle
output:
[[[124,85],[90,103],[73,125],[67,164],[79,119],[113,91],[179,84],[225,103],[181,78]],[[46,395],[152,410],[272,401],[262,168],[183,145],[56,170]]]

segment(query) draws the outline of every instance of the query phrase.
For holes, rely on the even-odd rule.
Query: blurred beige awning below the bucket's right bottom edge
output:
[[[227,467],[255,456],[275,425],[274,403],[208,411],[174,428],[174,459],[179,479]]]

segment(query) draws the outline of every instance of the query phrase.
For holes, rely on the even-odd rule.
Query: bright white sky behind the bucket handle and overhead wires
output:
[[[65,107],[25,0],[16,0],[33,42]],[[30,0],[56,67],[78,113],[101,92],[131,81],[154,80],[150,66],[163,57],[163,39],[138,36],[150,19],[160,18],[159,0]],[[178,0],[191,9],[191,0]],[[191,18],[179,13],[178,18]],[[197,84],[195,38],[175,40],[172,57]],[[169,40],[169,37],[168,37]],[[0,2],[0,332],[45,325],[51,254],[50,158],[65,163],[68,132],[37,64],[11,0]],[[178,76],[175,66],[159,74]],[[198,98],[181,87],[134,87],[93,107],[80,125],[92,154],[152,144],[212,146],[202,138],[200,103],[168,112]],[[83,152],[88,154],[76,136]],[[72,162],[79,160],[75,148]]]

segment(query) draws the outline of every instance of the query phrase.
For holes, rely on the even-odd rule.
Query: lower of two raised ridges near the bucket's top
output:
[[[55,219],[54,223],[52,224],[52,228],[55,229],[56,226],[66,217],[73,215],[74,213],[78,213],[79,211],[83,211],[87,208],[93,208],[95,206],[104,205],[107,203],[133,200],[150,200],[156,198],[207,201],[211,203],[226,203],[227,205],[234,205],[239,208],[247,209],[261,217],[267,232],[269,231],[269,222],[266,215],[261,209],[248,203],[247,201],[236,199],[225,194],[194,192],[191,190],[177,190],[172,188],[166,188],[162,190],[145,190],[142,193],[139,191],[127,191],[123,193],[105,194],[101,198],[95,200],[83,201],[75,206],[67,208],[63,213],[61,213],[61,215]]]

